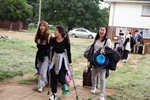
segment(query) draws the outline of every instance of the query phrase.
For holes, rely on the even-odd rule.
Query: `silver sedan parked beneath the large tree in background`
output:
[[[73,30],[69,31],[69,35],[71,35],[72,37],[84,37],[84,38],[89,38],[89,39],[93,39],[96,36],[96,33],[90,32],[87,29],[84,28],[76,28]]]

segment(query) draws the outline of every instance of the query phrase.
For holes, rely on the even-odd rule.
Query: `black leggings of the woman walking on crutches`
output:
[[[61,83],[61,85],[64,85],[66,83],[65,76],[67,70],[65,69],[64,61],[62,62],[61,69],[59,71],[59,74],[55,74],[54,70],[55,66],[51,69],[51,89],[53,93],[57,93],[57,81]]]

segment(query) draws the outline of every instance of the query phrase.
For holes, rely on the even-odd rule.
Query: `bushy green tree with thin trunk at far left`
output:
[[[27,8],[25,0],[0,0],[0,19],[11,21],[10,29],[13,22],[26,21],[31,16],[32,9]]]

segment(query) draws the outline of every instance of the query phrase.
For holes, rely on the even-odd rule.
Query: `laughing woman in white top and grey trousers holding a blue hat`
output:
[[[106,41],[107,36],[107,27],[101,26],[98,29],[97,35],[96,35],[96,43],[94,45],[94,53],[98,51],[100,48],[103,48],[104,43]],[[111,40],[107,39],[106,45],[107,47],[111,48]],[[105,52],[101,52],[102,54],[105,54]],[[104,99],[104,92],[105,92],[105,75],[106,75],[106,68],[98,68],[96,66],[92,66],[92,89],[91,92],[95,93],[96,91],[96,81],[97,81],[97,75],[100,74],[100,100]]]

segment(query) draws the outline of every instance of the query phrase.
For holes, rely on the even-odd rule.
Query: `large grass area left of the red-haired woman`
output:
[[[35,54],[33,41],[14,38],[0,41],[0,80],[35,72]]]

